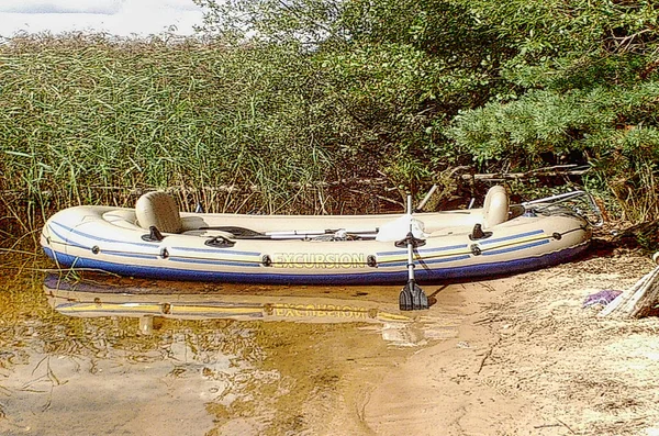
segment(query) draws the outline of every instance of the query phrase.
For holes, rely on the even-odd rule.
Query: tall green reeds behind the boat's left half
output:
[[[333,156],[314,137],[303,60],[157,38],[0,46],[0,216],[27,231],[42,210],[153,188],[209,211],[319,212]]]

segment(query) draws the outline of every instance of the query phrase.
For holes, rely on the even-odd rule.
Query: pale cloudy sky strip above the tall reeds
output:
[[[16,33],[105,32],[190,35],[202,12],[192,0],[0,0],[0,36]]]

